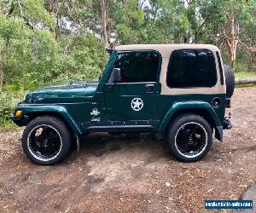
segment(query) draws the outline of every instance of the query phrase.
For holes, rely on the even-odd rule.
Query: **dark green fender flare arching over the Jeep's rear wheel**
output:
[[[170,123],[172,117],[175,116],[175,114],[178,111],[182,111],[182,110],[188,111],[189,109],[194,109],[194,110],[202,109],[202,110],[207,111],[211,115],[212,121],[214,121],[214,123],[215,123],[214,128],[218,129],[219,136],[217,136],[217,137],[219,138],[220,141],[222,141],[222,132],[219,132],[219,127],[222,127],[222,124],[221,124],[220,120],[218,119],[218,115],[214,111],[212,106],[208,102],[204,102],[204,101],[185,101],[185,102],[174,103],[172,105],[172,107],[168,110],[168,112],[166,113],[166,116],[160,122],[158,130],[160,132],[165,132],[167,125]]]

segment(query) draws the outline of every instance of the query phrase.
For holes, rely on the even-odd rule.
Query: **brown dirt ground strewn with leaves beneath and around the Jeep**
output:
[[[236,89],[234,128],[192,164],[152,135],[102,134],[39,166],[22,153],[21,130],[0,130],[0,212],[204,212],[205,199],[240,199],[256,180],[255,109],[256,88]]]

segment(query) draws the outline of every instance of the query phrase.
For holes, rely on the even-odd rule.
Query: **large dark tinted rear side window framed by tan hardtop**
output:
[[[216,66],[208,49],[179,49],[172,52],[166,83],[169,87],[212,87],[217,83]]]

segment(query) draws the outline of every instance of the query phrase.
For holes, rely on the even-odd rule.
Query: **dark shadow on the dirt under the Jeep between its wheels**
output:
[[[88,157],[101,157],[102,155],[116,154],[120,158],[126,155],[141,155],[143,158],[160,156],[172,158],[165,140],[154,134],[118,134],[96,133],[85,135],[80,141],[79,153],[76,145],[72,148],[73,158],[84,159]]]

